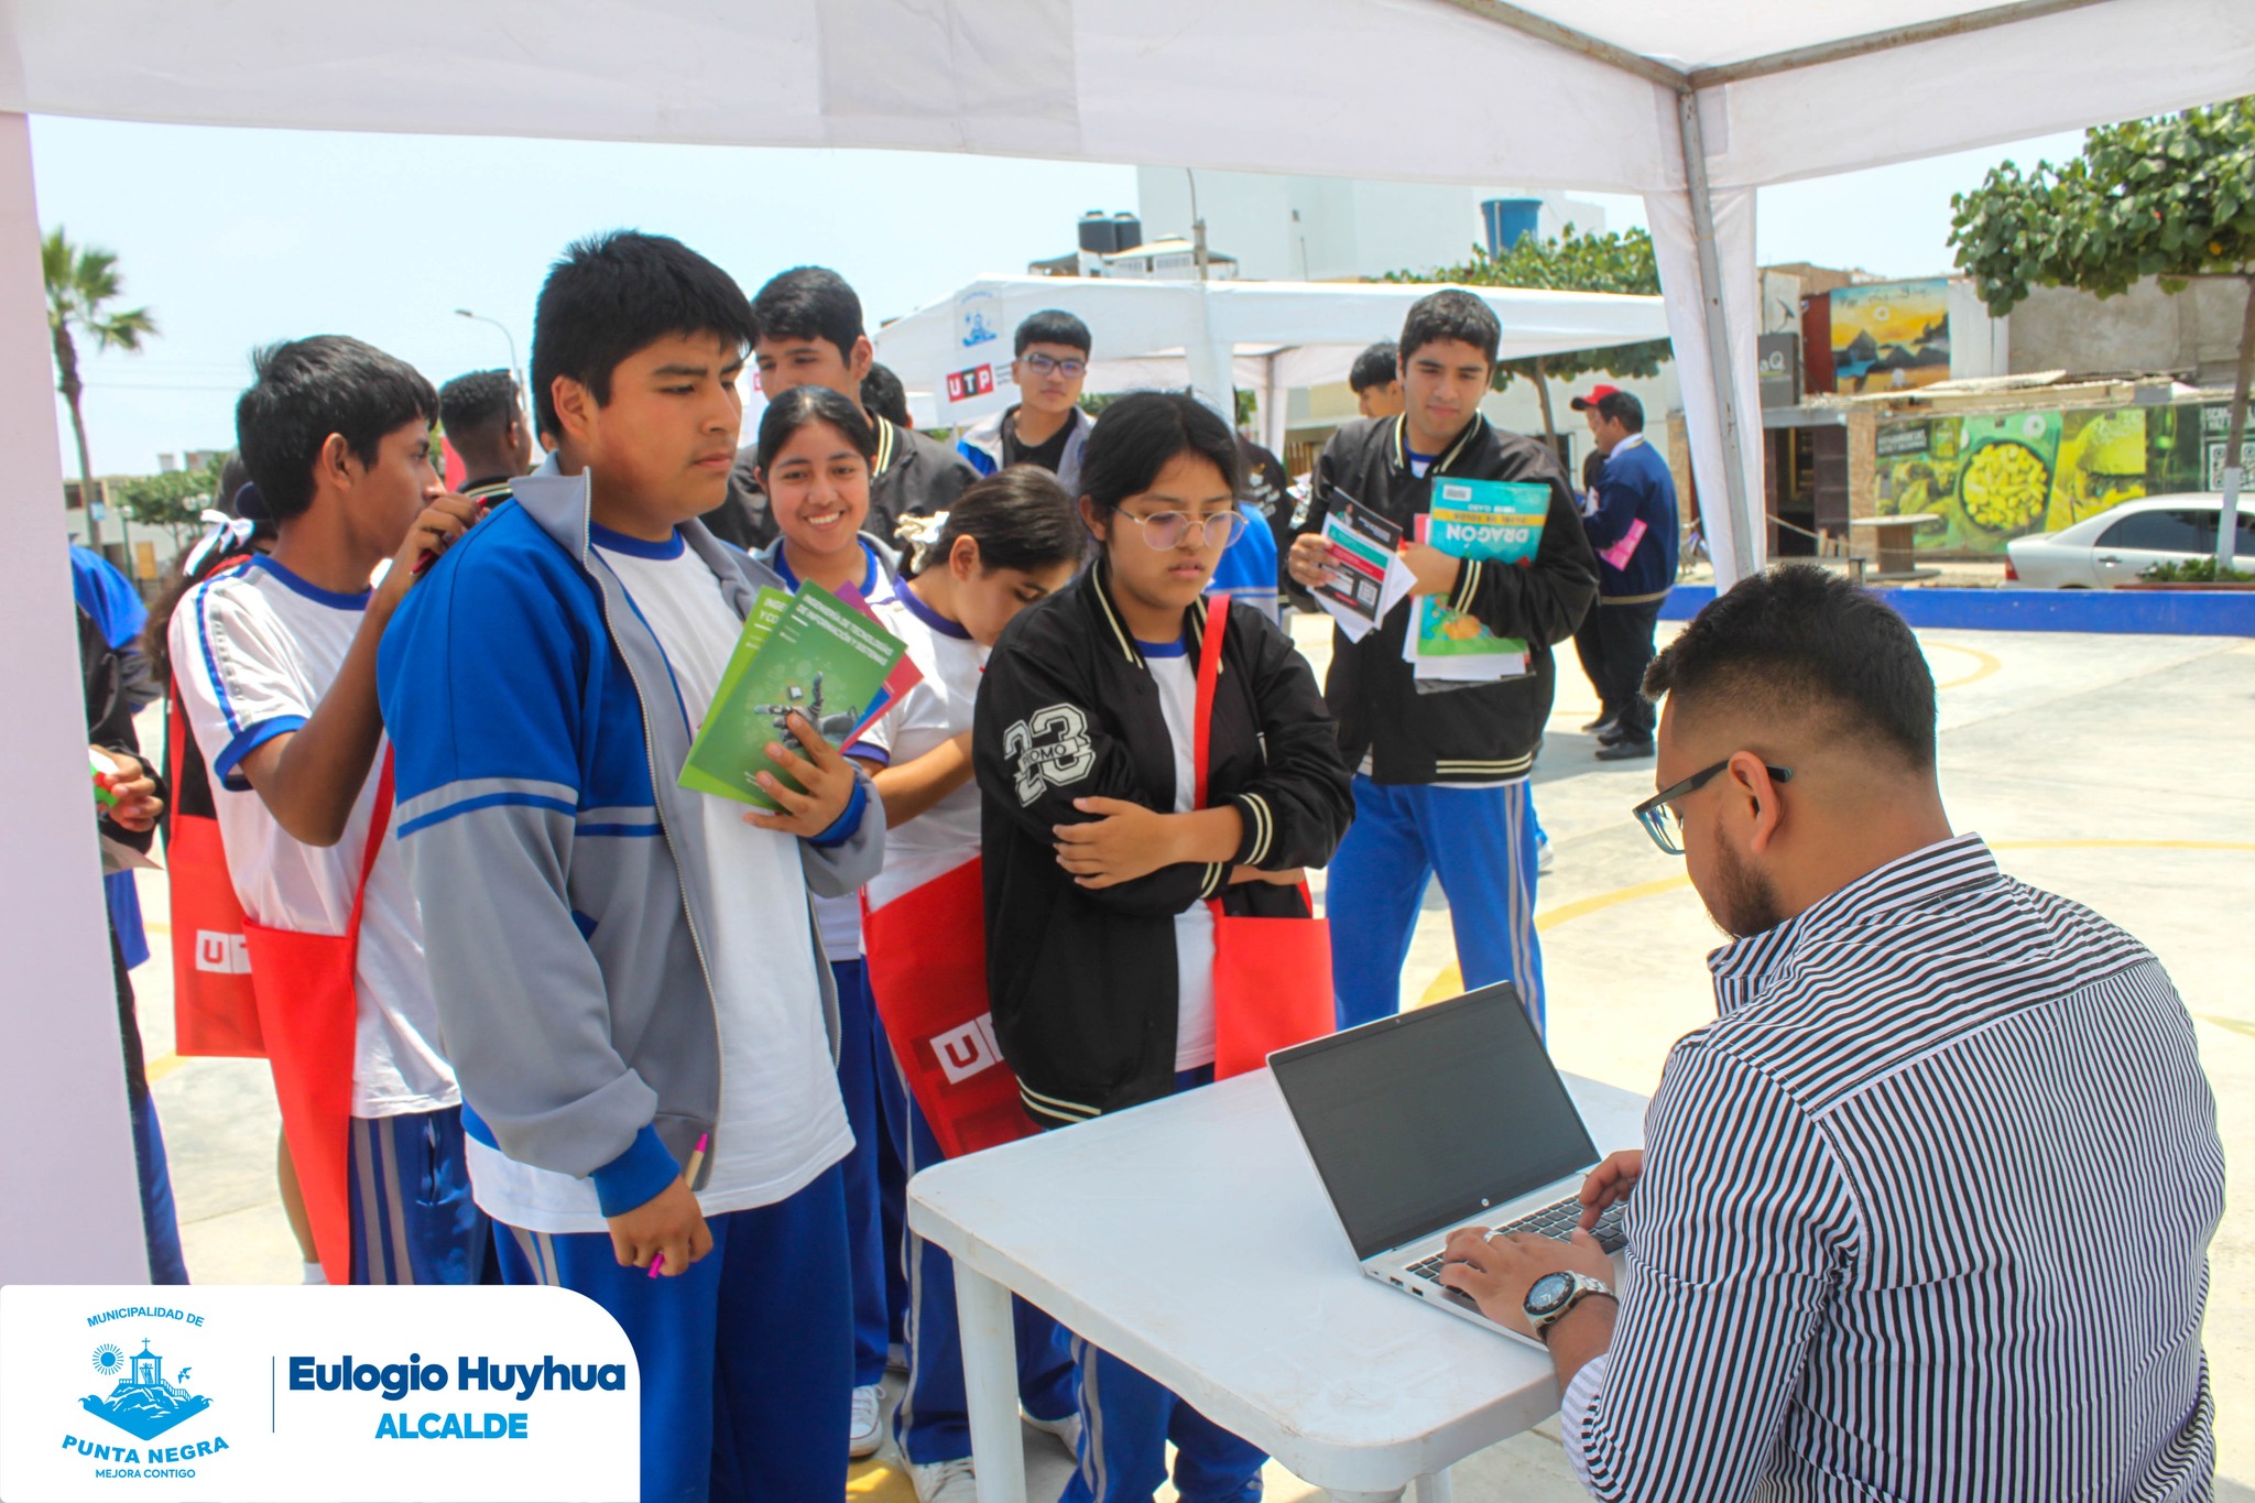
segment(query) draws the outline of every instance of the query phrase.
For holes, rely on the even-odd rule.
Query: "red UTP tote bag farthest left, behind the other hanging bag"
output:
[[[180,771],[194,739],[174,685],[165,714],[167,782],[185,786]],[[201,753],[198,753],[201,755]],[[174,1052],[196,1059],[264,1059],[259,998],[250,987],[250,942],[244,906],[228,877],[228,847],[210,813],[171,809],[165,827],[165,868],[171,881],[171,1032]]]

